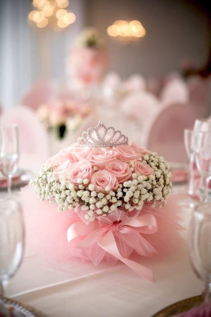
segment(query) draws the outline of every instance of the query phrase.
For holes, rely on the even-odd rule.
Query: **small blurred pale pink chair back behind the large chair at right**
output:
[[[189,91],[186,83],[180,78],[173,78],[168,81],[161,91],[160,101],[164,106],[174,102],[189,102]]]

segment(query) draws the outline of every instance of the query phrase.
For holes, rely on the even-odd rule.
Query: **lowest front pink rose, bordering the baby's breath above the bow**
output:
[[[97,192],[105,192],[105,188],[109,186],[113,191],[118,188],[118,180],[108,171],[97,171],[92,175],[91,184],[94,184]]]

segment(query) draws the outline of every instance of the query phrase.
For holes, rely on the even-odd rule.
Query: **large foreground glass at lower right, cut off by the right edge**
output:
[[[196,275],[205,282],[202,312],[211,309],[211,204],[199,204],[190,220],[189,256]]]

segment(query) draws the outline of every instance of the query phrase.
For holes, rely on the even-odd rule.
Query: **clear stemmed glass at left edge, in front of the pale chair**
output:
[[[11,195],[12,175],[17,171],[18,127],[16,124],[0,126],[0,171],[7,178],[8,194]]]

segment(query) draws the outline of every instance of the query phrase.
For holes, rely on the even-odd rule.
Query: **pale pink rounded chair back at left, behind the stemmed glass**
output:
[[[39,171],[49,157],[48,137],[34,112],[27,107],[17,106],[3,113],[0,123],[18,125],[19,167]]]

